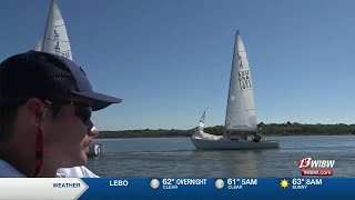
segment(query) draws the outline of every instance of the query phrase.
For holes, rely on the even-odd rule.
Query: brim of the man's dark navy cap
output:
[[[111,96],[106,96],[103,93],[98,93],[94,91],[72,91],[72,93],[83,97],[85,99],[88,99],[91,103],[92,110],[97,111],[97,110],[101,110],[104,109],[106,107],[109,107],[112,103],[120,103],[122,102],[122,99],[115,98],[115,97],[111,97]]]

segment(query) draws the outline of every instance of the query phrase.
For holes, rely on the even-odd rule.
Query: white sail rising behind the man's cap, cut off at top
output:
[[[60,54],[72,60],[71,48],[67,33],[67,28],[62,14],[60,13],[57,0],[52,0],[47,20],[43,52]]]

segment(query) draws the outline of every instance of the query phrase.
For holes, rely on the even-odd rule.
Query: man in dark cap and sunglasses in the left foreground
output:
[[[0,63],[0,177],[55,177],[88,161],[91,112],[122,100],[94,92],[74,62],[39,51]]]

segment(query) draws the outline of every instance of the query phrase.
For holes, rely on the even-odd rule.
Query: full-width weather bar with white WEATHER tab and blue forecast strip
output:
[[[0,199],[353,199],[354,178],[0,178]],[[18,192],[21,191],[21,192]]]

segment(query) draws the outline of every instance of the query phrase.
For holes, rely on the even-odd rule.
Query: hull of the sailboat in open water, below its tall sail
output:
[[[219,140],[206,140],[203,138],[191,138],[192,143],[197,150],[252,150],[252,149],[278,149],[277,140],[262,140],[260,142],[231,140],[221,138]]]

